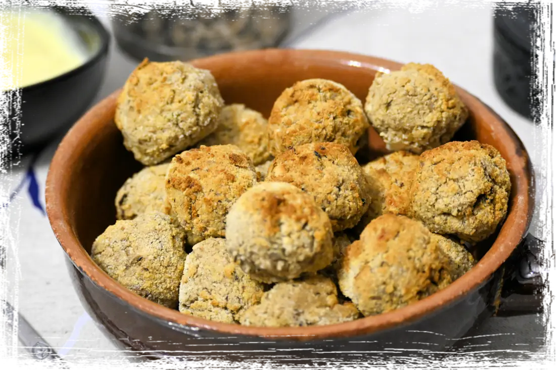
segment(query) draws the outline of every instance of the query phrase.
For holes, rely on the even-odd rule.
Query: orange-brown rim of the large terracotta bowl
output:
[[[401,67],[400,63],[382,58],[363,56],[346,52],[316,51],[303,49],[265,49],[259,51],[235,52],[220,54],[209,58],[192,61],[198,67],[214,66],[215,64],[234,63],[238,59],[265,60],[265,58],[288,58],[290,61],[311,61],[318,59],[320,63],[330,64],[359,64],[368,66],[375,71],[395,70]],[[492,122],[490,127],[497,128],[498,145],[507,147],[507,151],[515,153],[515,157],[507,158],[514,166],[513,177],[515,183],[515,196],[512,198],[511,208],[502,226],[502,231],[493,243],[493,246],[483,258],[464,276],[451,283],[431,296],[409,306],[394,311],[361,318],[355,321],[332,324],[328,326],[294,327],[294,328],[266,328],[248,327],[238,324],[227,324],[209,321],[206,319],[182,314],[176,310],[160,306],[146,298],[140,297],[115,280],[110,278],[100,267],[92,261],[85,248],[81,246],[73,227],[67,222],[66,199],[59,189],[69,187],[69,168],[75,166],[74,150],[83,143],[84,133],[95,127],[98,117],[103,112],[113,112],[116,99],[121,90],[115,91],[92,107],[73,126],[62,142],[59,144],[52,159],[46,185],[46,207],[51,227],[73,265],[96,286],[105,289],[108,293],[118,298],[122,303],[130,306],[134,311],[144,316],[155,319],[172,329],[184,333],[204,330],[203,334],[239,334],[241,336],[259,337],[267,339],[282,339],[294,341],[307,341],[311,339],[340,338],[369,334],[384,329],[393,328],[400,324],[415,321],[426,314],[433,313],[446,305],[463,298],[466,293],[483,286],[489,278],[498,271],[500,266],[510,257],[518,247],[528,231],[533,215],[535,200],[535,179],[533,167],[523,143],[496,113],[478,98],[465,90],[456,87],[458,94],[464,100],[471,112],[480,113],[486,117],[485,121]]]

